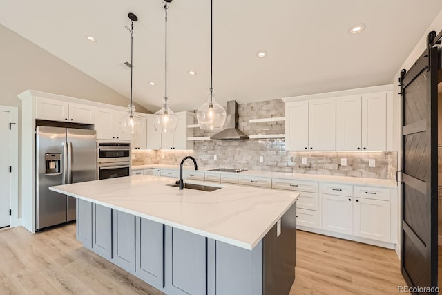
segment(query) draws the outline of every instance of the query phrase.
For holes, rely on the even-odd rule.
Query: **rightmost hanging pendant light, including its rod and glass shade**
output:
[[[215,91],[212,86],[213,76],[213,0],[210,1],[210,89],[207,102],[200,106],[196,112],[198,124],[201,129],[217,131],[222,129],[226,121],[226,110],[213,98]]]

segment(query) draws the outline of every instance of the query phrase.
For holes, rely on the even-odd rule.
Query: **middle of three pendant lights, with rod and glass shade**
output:
[[[161,131],[164,133],[167,132],[175,132],[178,126],[178,117],[169,105],[167,104],[167,3],[171,3],[172,0],[165,0],[164,5],[162,6],[165,12],[165,24],[166,24],[166,46],[164,50],[164,73],[165,73],[165,88],[164,88],[164,99],[163,99],[163,107],[160,111],[153,114],[153,126],[155,127],[155,131]]]

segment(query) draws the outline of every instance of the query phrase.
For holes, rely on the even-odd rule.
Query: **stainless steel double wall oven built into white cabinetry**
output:
[[[131,144],[99,142],[97,144],[97,179],[131,175]]]

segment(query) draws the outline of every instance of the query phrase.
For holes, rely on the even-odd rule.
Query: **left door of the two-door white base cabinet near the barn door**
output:
[[[353,234],[353,198],[323,194],[323,229],[341,234]]]

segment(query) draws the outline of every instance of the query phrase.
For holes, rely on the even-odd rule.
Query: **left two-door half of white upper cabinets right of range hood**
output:
[[[335,99],[314,99],[286,104],[286,149],[334,151],[336,149]]]

